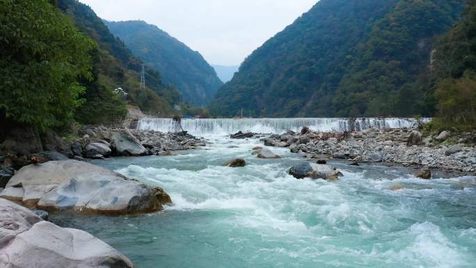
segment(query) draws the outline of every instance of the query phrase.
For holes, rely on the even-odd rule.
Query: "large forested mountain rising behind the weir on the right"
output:
[[[431,113],[413,82],[463,0],[321,0],[246,58],[210,104],[215,116]]]

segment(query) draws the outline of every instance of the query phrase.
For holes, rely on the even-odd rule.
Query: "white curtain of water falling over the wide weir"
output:
[[[429,118],[422,119],[428,122]],[[260,134],[280,134],[292,130],[299,131],[307,126],[315,131],[344,132],[367,128],[403,128],[418,124],[415,118],[244,118],[244,119],[182,119],[184,130],[193,135],[226,135],[239,131]],[[138,122],[138,129],[173,132],[175,124],[170,118],[144,118]]]

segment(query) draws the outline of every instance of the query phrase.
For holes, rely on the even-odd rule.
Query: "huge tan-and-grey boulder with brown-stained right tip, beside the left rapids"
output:
[[[25,166],[10,179],[0,197],[43,210],[103,214],[154,212],[170,203],[160,188],[76,160]]]

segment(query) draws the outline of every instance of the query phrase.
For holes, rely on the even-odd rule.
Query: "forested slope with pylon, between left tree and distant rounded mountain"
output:
[[[173,113],[173,104],[180,100],[177,90],[164,86],[159,72],[146,67],[147,88],[145,92],[140,92],[142,61],[113,36],[91,8],[77,0],[58,0],[58,7],[98,44],[92,52],[94,79],[83,81],[88,90],[84,95],[86,103],[77,112],[77,120],[81,123],[103,123],[120,118],[125,113],[124,101],[150,113]],[[120,94],[113,93],[116,88],[122,88],[127,96],[118,99]]]

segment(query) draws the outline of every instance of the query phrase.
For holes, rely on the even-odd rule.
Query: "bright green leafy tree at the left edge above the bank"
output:
[[[47,0],[0,0],[0,109],[40,128],[68,122],[94,43]]]

